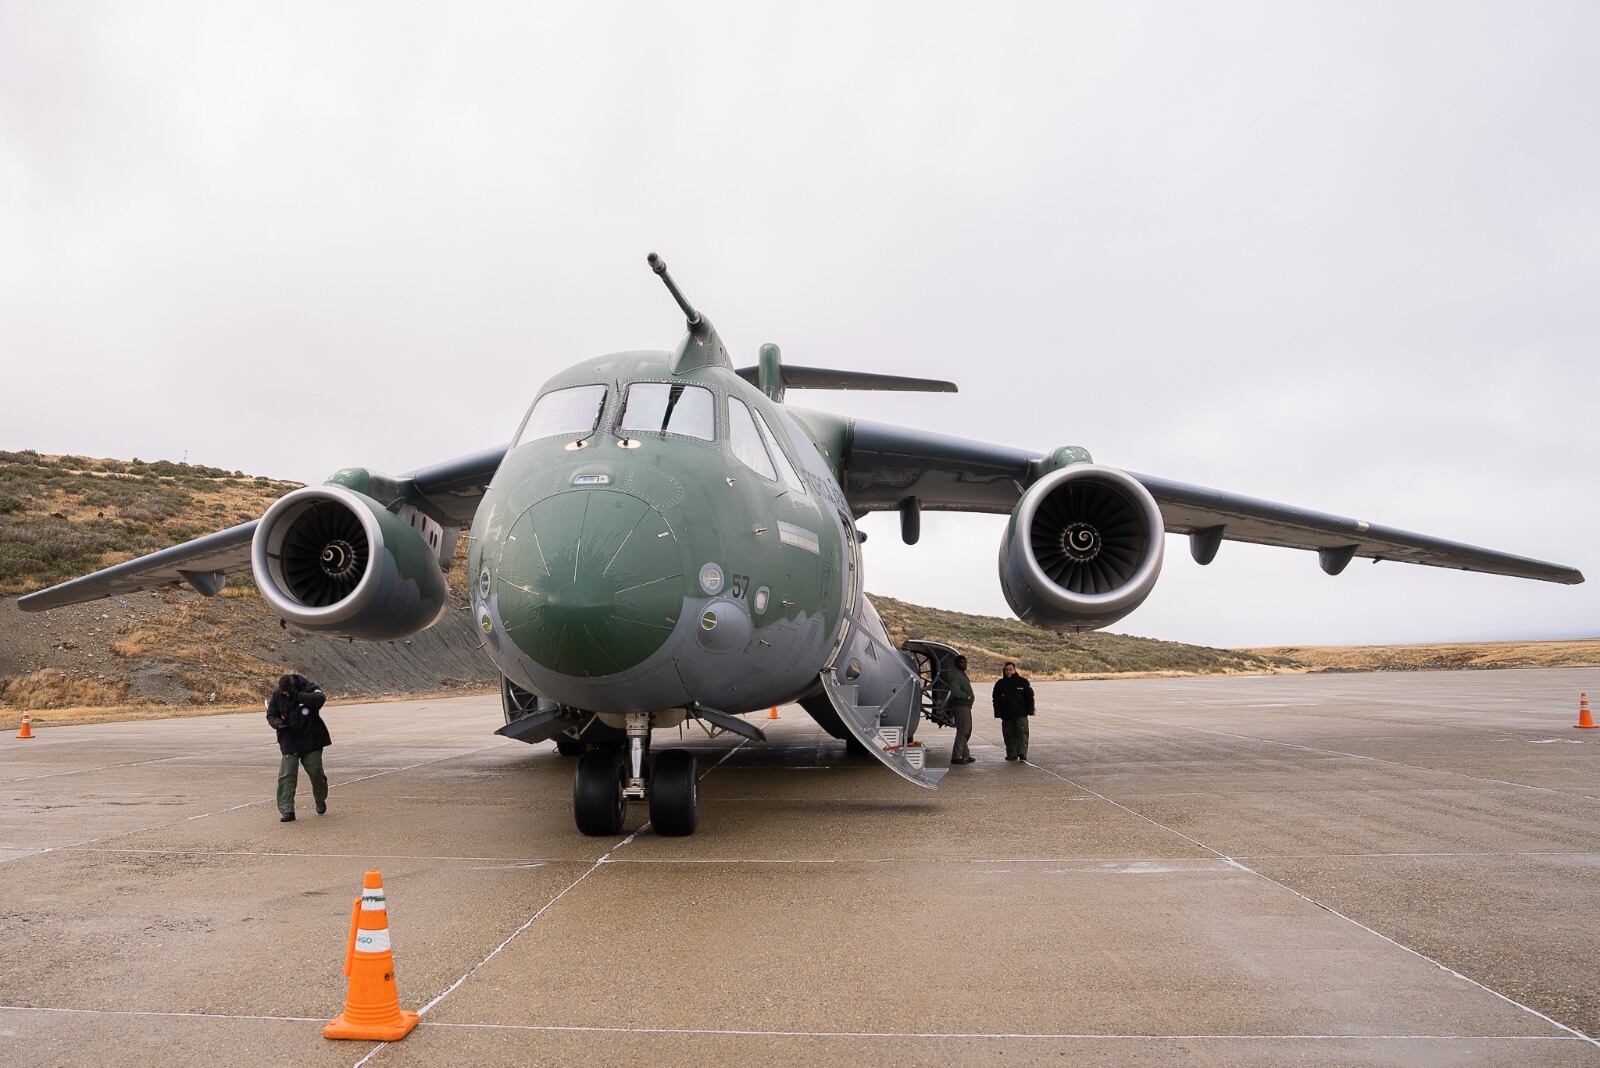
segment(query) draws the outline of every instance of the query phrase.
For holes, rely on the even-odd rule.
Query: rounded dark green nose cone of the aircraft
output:
[[[546,497],[501,547],[506,635],[541,667],[605,676],[659,649],[683,608],[678,540],[653,507],[626,492]]]

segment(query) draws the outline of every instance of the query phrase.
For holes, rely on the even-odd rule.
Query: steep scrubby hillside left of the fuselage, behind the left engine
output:
[[[254,520],[298,486],[195,464],[0,452],[0,595]],[[168,588],[29,614],[3,596],[0,708],[75,710],[70,718],[221,711],[254,707],[285,670],[346,697],[494,686],[467,622],[461,568],[451,592],[437,627],[379,644],[280,628],[248,572],[230,576],[216,598]]]

